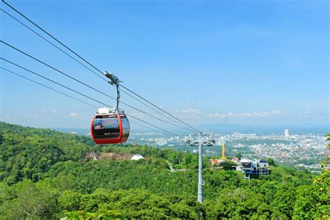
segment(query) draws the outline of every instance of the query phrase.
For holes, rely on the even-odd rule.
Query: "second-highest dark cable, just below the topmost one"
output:
[[[73,56],[71,56],[70,54],[68,54],[67,52],[65,52],[63,49],[61,49],[60,47],[57,47],[56,45],[54,45],[53,42],[47,40],[45,37],[41,36],[38,32],[34,31],[33,29],[31,29],[29,26],[27,26],[26,24],[24,24],[23,22],[19,21],[19,19],[15,18],[13,15],[10,15],[9,13],[7,13],[5,10],[1,9],[0,10],[5,13],[6,15],[8,15],[9,17],[11,17],[12,19],[14,19],[16,22],[18,22],[19,24],[22,24],[23,26],[26,27],[26,29],[29,29],[30,31],[32,31],[33,33],[35,33],[37,36],[39,36],[40,38],[42,38],[43,40],[47,41],[49,44],[51,44],[52,46],[56,47],[56,49],[60,50],[61,52],[63,52],[64,54],[66,54],[67,56],[69,56],[70,58],[72,58],[74,61],[76,61],[77,63],[79,63],[80,65],[84,66],[84,68],[86,68],[87,70],[93,72],[95,75],[97,75],[97,77],[100,77],[100,79],[107,81],[107,79],[104,79],[103,77],[101,77],[99,74],[97,74],[96,72],[94,72],[93,70],[91,70],[91,68],[88,68],[88,66],[84,65],[84,63],[81,63],[80,61],[78,61],[76,58],[74,58]],[[157,113],[159,113],[160,115],[166,117],[168,120],[173,121],[174,123],[176,123],[178,125],[178,127],[182,128],[182,129],[187,129],[186,127],[182,127],[177,121],[173,120],[173,118],[168,117],[166,115],[164,115],[163,113],[161,113],[160,111],[157,111],[157,109],[150,107],[148,104],[142,102],[141,100],[137,99],[136,97],[134,97],[133,95],[130,95],[129,93],[123,91],[123,93],[126,93],[127,95],[129,95],[130,97],[134,98],[134,100],[137,100],[138,102],[141,102],[142,104],[144,104],[146,107],[149,107],[150,109],[156,111]],[[194,132],[194,130],[192,129],[187,129],[191,132]]]

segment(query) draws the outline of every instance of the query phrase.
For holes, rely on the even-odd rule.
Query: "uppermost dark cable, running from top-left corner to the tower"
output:
[[[73,54],[75,54],[76,56],[78,56],[79,58],[81,58],[81,60],[85,61],[86,63],[88,63],[88,65],[91,65],[91,67],[93,67],[95,70],[97,70],[98,72],[100,72],[101,74],[103,74],[103,72],[96,68],[95,65],[91,64],[90,62],[88,62],[85,58],[83,58],[82,56],[80,56],[79,54],[77,54],[76,52],[74,52],[72,49],[70,49],[70,47],[66,46],[63,42],[61,42],[60,40],[58,40],[57,38],[55,38],[54,36],[52,36],[51,33],[45,31],[45,29],[42,29],[42,27],[40,27],[38,24],[36,24],[35,22],[33,22],[31,19],[29,19],[28,17],[26,17],[25,15],[23,15],[22,13],[19,12],[19,10],[15,9],[13,6],[11,6],[9,3],[7,3],[6,1],[2,0],[3,3],[5,3],[8,7],[10,7],[11,9],[15,10],[16,13],[18,13],[19,15],[21,15],[22,17],[24,17],[26,20],[28,20],[29,22],[31,22],[31,24],[33,24],[34,26],[38,27],[38,29],[40,29],[41,31],[43,31],[44,33],[46,33],[49,37],[53,38],[54,40],[56,40],[56,42],[60,43],[63,47],[65,47],[66,49],[68,49],[70,52],[72,52]],[[66,53],[65,53],[66,54]],[[80,62],[79,62],[80,63]],[[88,68],[89,69],[89,68]],[[93,71],[92,71],[93,72]],[[94,72],[95,73],[95,72]],[[97,74],[98,75],[98,74]],[[100,75],[98,75],[100,77]],[[104,79],[104,78],[102,78]],[[149,104],[152,104],[151,102],[149,102],[148,100],[144,99],[143,97],[141,97],[140,95],[134,93],[133,91],[129,90],[128,88],[126,88],[125,86],[121,85],[123,88],[125,88],[127,91],[129,91],[130,93],[136,95],[137,97],[141,98],[142,100],[148,102]],[[176,120],[180,121],[180,123],[190,127],[191,129],[193,129],[194,131],[201,133],[201,131],[198,131],[198,129],[192,127],[191,125],[188,125],[187,123],[184,123],[182,120],[180,120],[179,118],[171,115],[170,113],[164,111],[163,109],[157,107],[155,104],[152,104],[152,106],[156,107],[157,109],[161,110],[162,112],[166,113],[168,116],[171,116],[172,118],[175,118]]]

